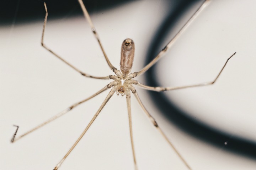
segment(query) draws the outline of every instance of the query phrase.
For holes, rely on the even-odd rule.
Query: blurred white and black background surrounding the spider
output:
[[[41,46],[44,1],[0,5],[0,166],[53,169],[105,99],[98,95],[15,143],[30,130],[110,81],[82,77]],[[45,44],[80,70],[113,75],[74,1],[46,1]],[[174,37],[203,1],[85,1],[111,63],[119,68],[121,43],[135,42],[132,72],[139,71]],[[136,87],[147,110],[194,170],[256,168],[255,1],[212,0],[147,73],[150,86],[212,86],[170,92]],[[138,168],[186,169],[132,98]],[[114,95],[61,170],[133,169],[126,99]]]

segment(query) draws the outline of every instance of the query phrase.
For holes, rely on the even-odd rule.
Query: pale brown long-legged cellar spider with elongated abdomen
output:
[[[81,140],[81,138],[85,135],[85,133],[87,132],[87,130],[90,128],[90,126],[92,125],[92,123],[95,121],[95,119],[97,118],[97,116],[100,114],[100,112],[102,111],[103,107],[107,104],[107,102],[110,100],[110,98],[114,95],[114,93],[116,93],[117,95],[121,95],[121,96],[126,96],[126,102],[127,102],[127,110],[128,110],[128,118],[129,118],[129,131],[130,131],[130,141],[131,141],[131,145],[132,145],[132,153],[133,153],[133,161],[134,161],[134,169],[137,170],[137,160],[136,160],[136,156],[135,156],[135,149],[134,149],[134,142],[133,142],[133,130],[132,130],[132,119],[131,119],[131,103],[130,103],[130,97],[131,94],[134,94],[134,97],[136,98],[136,100],[138,101],[139,105],[142,107],[142,109],[144,110],[145,114],[149,117],[150,121],[152,122],[152,124],[155,126],[155,128],[157,128],[157,130],[161,133],[161,135],[165,138],[166,142],[169,143],[169,145],[174,149],[174,151],[176,152],[176,154],[178,155],[178,157],[182,160],[182,162],[186,165],[187,169],[191,169],[190,165],[188,165],[188,163],[186,162],[186,160],[181,156],[181,154],[178,152],[178,150],[173,146],[173,144],[170,142],[170,140],[166,137],[166,135],[164,134],[164,132],[161,130],[161,128],[159,127],[158,123],[155,121],[155,119],[150,115],[150,113],[146,110],[146,108],[144,107],[144,105],[142,104],[142,101],[140,100],[137,91],[135,89],[134,86],[138,86],[147,90],[151,90],[151,91],[157,91],[157,92],[163,92],[163,91],[170,91],[170,90],[175,90],[175,89],[183,89],[183,88],[190,88],[190,87],[199,87],[199,86],[208,86],[211,84],[214,84],[218,77],[220,76],[220,74],[222,73],[224,67],[226,66],[227,62],[229,61],[229,59],[235,55],[232,54],[225,62],[224,66],[222,67],[222,69],[220,70],[220,72],[218,73],[217,77],[211,81],[211,82],[206,82],[206,83],[199,83],[199,84],[193,84],[193,85],[188,85],[188,86],[178,86],[178,87],[150,87],[150,86],[146,86],[142,83],[140,83],[139,81],[135,80],[135,77],[138,77],[140,75],[142,75],[144,72],[146,72],[151,66],[153,66],[162,56],[164,56],[164,54],[166,53],[167,50],[169,50],[171,48],[171,46],[175,43],[176,39],[182,34],[182,32],[185,31],[185,29],[190,25],[190,23],[199,15],[199,13],[204,9],[204,7],[206,7],[206,5],[208,4],[209,0],[204,1],[204,3],[199,7],[199,9],[194,13],[194,15],[190,18],[190,20],[188,20],[188,22],[181,28],[181,30],[175,35],[175,37],[173,39],[170,40],[170,42],[159,52],[159,54],[155,57],[155,59],[153,59],[151,62],[149,62],[149,64],[147,64],[145,67],[143,67],[140,71],[137,72],[133,72],[131,73],[131,69],[132,69],[132,65],[133,65],[133,59],[134,59],[134,51],[135,51],[135,44],[133,42],[132,39],[127,38],[123,41],[122,46],[121,46],[121,61],[120,61],[120,70],[118,70],[116,67],[114,67],[110,60],[108,59],[105,50],[103,49],[103,45],[99,39],[99,36],[97,34],[97,31],[94,27],[94,24],[91,21],[91,18],[89,16],[89,13],[87,12],[85,5],[83,4],[82,0],[78,0],[79,4],[81,6],[81,9],[84,13],[84,16],[86,18],[86,20],[89,22],[90,27],[91,27],[91,31],[94,34],[95,38],[97,39],[98,44],[100,45],[101,51],[105,57],[105,60],[108,64],[108,66],[110,67],[110,69],[113,71],[114,75],[109,75],[109,76],[105,76],[105,77],[97,77],[97,76],[92,76],[89,75],[85,72],[80,71],[78,68],[76,68],[75,66],[71,65],[68,61],[64,60],[62,57],[60,57],[59,55],[57,55],[54,51],[52,51],[50,48],[48,48],[45,44],[44,44],[44,31],[46,29],[46,23],[47,23],[47,17],[48,17],[48,10],[47,10],[47,6],[46,3],[44,2],[44,7],[46,10],[46,15],[44,18],[44,24],[43,24],[43,31],[42,31],[42,39],[41,39],[41,44],[43,46],[43,48],[45,48],[46,50],[48,50],[50,53],[52,53],[54,56],[58,57],[60,60],[62,60],[63,62],[65,62],[68,66],[70,66],[71,68],[73,68],[75,71],[79,72],[82,76],[85,77],[89,77],[89,78],[95,78],[95,79],[111,79],[112,82],[107,84],[105,87],[103,87],[100,91],[96,92],[95,94],[91,95],[90,97],[81,100],[80,102],[77,102],[71,106],[69,106],[67,109],[65,109],[64,111],[60,112],[59,114],[53,116],[52,118],[50,118],[49,120],[43,122],[42,124],[36,126],[35,128],[33,128],[32,130],[24,133],[23,135],[16,137],[16,133],[18,130],[18,126],[16,129],[16,132],[13,136],[13,138],[11,139],[11,142],[15,142],[18,139],[28,135],[29,133],[37,130],[38,128],[48,124],[49,122],[57,119],[58,117],[68,113],[70,110],[74,109],[76,106],[90,100],[91,98],[95,97],[96,95],[107,91],[108,89],[110,89],[110,92],[108,93],[107,97],[105,98],[105,100],[103,101],[103,103],[101,104],[100,108],[97,110],[96,114],[94,115],[94,117],[91,119],[91,121],[89,122],[89,124],[87,125],[87,127],[85,128],[85,130],[82,132],[82,134],[79,136],[79,138],[76,140],[76,142],[73,144],[73,146],[69,149],[69,151],[65,154],[65,156],[62,158],[62,160],[60,160],[60,162],[55,166],[54,170],[59,169],[59,167],[62,165],[63,161],[68,157],[68,155],[71,153],[71,151],[75,148],[75,146],[79,143],[79,141]]]

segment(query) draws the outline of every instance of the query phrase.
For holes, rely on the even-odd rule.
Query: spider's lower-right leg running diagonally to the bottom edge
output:
[[[140,106],[142,107],[142,109],[144,110],[144,112],[146,113],[146,115],[149,117],[150,121],[153,123],[153,125],[157,128],[157,130],[161,133],[161,135],[165,138],[165,140],[170,144],[170,146],[172,147],[172,149],[176,152],[176,154],[178,155],[178,157],[182,160],[182,162],[187,166],[188,169],[191,170],[190,166],[188,165],[188,163],[185,161],[185,159],[181,156],[181,154],[178,152],[178,150],[174,147],[174,145],[171,143],[171,141],[169,141],[169,139],[166,137],[166,135],[164,134],[164,132],[161,130],[161,128],[158,126],[158,124],[156,123],[155,119],[149,114],[149,112],[146,110],[145,106],[142,104],[137,92],[134,93],[135,98],[137,99],[137,101],[139,102]]]

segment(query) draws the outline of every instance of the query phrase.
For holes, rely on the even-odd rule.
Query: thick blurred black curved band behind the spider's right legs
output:
[[[147,54],[146,64],[148,64],[163,48],[160,47],[159,42],[162,42],[167,33],[170,32],[175,25],[179,17],[184,13],[188,7],[190,7],[197,0],[182,0],[176,4],[175,10],[171,10],[169,15],[162,22],[158,31],[151,41],[151,45]],[[149,86],[160,86],[154,77],[156,77],[155,66],[151,67],[146,73],[146,83]],[[172,124],[175,124],[178,128],[182,129],[186,133],[199,138],[204,142],[208,142],[216,147],[228,150],[239,155],[246,156],[251,159],[256,159],[256,142],[243,139],[238,136],[233,136],[222,131],[218,131],[203,122],[194,120],[178,109],[172,102],[167,99],[164,93],[149,92],[156,106],[161,110],[161,113],[166,116]],[[207,113],[206,113],[207,114]],[[225,145],[224,142],[228,141]]]

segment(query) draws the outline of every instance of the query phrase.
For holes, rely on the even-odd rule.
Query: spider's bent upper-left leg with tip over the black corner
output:
[[[71,65],[68,61],[64,60],[62,57],[60,57],[59,55],[57,55],[56,53],[54,53],[51,49],[49,49],[45,44],[44,44],[44,31],[46,28],[46,23],[47,23],[47,16],[48,16],[48,11],[47,11],[47,7],[46,7],[46,3],[44,2],[44,8],[46,10],[46,16],[44,17],[44,24],[43,24],[43,32],[42,32],[42,39],[41,39],[41,45],[48,50],[50,53],[52,53],[53,55],[55,55],[58,59],[62,60],[63,62],[65,62],[67,65],[69,65],[70,67],[72,67],[75,71],[79,72],[82,76],[85,77],[90,77],[90,78],[96,78],[96,79],[110,79],[108,76],[106,77],[96,77],[96,76],[91,76],[89,74],[86,74],[82,71],[80,71],[78,68],[74,67],[73,65]]]

